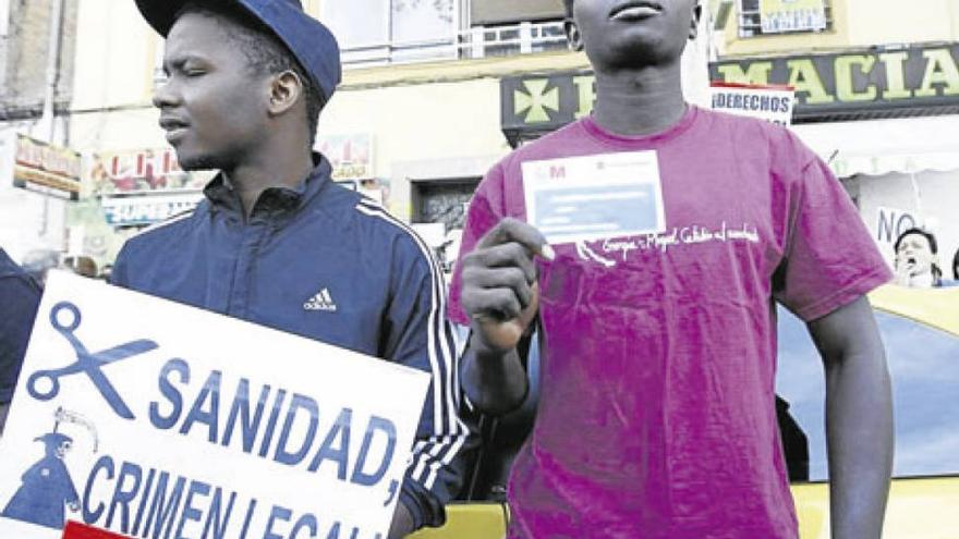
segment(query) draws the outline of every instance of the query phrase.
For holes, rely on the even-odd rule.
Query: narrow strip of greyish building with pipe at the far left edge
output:
[[[78,8],[78,0],[0,0],[0,246],[15,259],[65,246],[71,195],[48,189],[80,180],[65,150]]]

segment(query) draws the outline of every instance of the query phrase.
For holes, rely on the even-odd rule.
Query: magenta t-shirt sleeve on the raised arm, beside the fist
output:
[[[470,317],[466,316],[460,303],[463,287],[463,256],[476,248],[480,238],[506,217],[506,211],[502,209],[502,199],[500,196],[497,196],[497,189],[501,183],[502,168],[500,164],[497,164],[480,182],[476,193],[473,194],[473,199],[470,200],[466,224],[463,226],[463,235],[460,240],[460,254],[453,268],[452,280],[450,281],[449,308],[447,310],[450,320],[462,326],[470,324]]]

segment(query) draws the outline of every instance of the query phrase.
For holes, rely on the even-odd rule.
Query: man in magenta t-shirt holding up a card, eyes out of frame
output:
[[[510,537],[798,537],[776,302],[823,355],[833,537],[879,537],[891,397],[864,294],[891,275],[848,195],[789,131],[683,101],[694,0],[567,7],[594,112],[489,171],[451,289],[450,316],[472,327],[463,387],[483,412],[522,401],[518,344],[541,327]],[[635,151],[655,152],[664,230],[550,246],[525,222],[523,163]]]

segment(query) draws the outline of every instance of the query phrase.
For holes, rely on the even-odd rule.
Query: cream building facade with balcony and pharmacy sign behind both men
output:
[[[76,76],[60,118],[63,142],[83,156],[84,191],[63,210],[62,248],[105,264],[138,228],[195,204],[208,176],[180,171],[157,125],[150,96],[162,39],[133,2],[73,1]],[[317,148],[339,181],[422,224],[437,247],[456,244],[464,205],[493,163],[591,110],[592,73],[566,47],[561,0],[303,3],[338,35],[345,65]],[[684,59],[688,99],[708,107],[711,77],[791,85],[792,128],[843,179],[881,247],[889,254],[896,232],[916,224],[935,229],[940,255],[951,257],[959,230],[944,212],[955,197],[943,189],[959,170],[950,136],[959,7],[704,4],[701,38]]]

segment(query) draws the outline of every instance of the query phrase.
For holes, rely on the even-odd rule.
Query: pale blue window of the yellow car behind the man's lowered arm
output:
[[[950,290],[940,289],[937,293],[949,294]],[[876,322],[893,379],[893,475],[901,478],[959,474],[959,335],[893,314],[879,304],[876,307]],[[790,415],[809,439],[809,479],[824,480],[827,468],[822,362],[805,326],[781,308],[776,378],[776,393],[789,403]],[[790,453],[788,446],[786,452]]]

